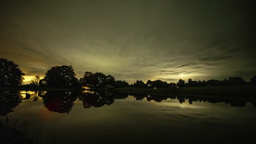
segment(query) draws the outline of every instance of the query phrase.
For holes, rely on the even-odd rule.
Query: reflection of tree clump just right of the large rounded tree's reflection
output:
[[[110,105],[114,103],[113,94],[108,94],[105,92],[95,92],[95,93],[82,93],[79,96],[79,100],[83,101],[84,108],[88,109],[92,106],[101,107],[103,105]]]

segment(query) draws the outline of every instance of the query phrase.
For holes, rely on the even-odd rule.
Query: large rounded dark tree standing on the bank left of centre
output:
[[[44,76],[47,87],[51,88],[74,88],[79,87],[78,79],[75,77],[71,65],[51,67]]]

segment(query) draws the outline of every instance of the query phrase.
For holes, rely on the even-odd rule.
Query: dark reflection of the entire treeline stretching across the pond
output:
[[[112,105],[116,99],[126,99],[129,94],[113,93],[113,92],[92,92],[92,91],[1,91],[0,92],[0,116],[5,116],[12,112],[22,100],[31,99],[38,101],[42,99],[44,106],[51,112],[69,113],[72,110],[74,101],[79,99],[83,103],[85,109],[91,107],[102,107],[104,105]],[[146,94],[133,94],[136,100],[147,99],[148,101],[161,102],[163,100],[178,100],[179,103],[193,104],[194,101],[208,103],[225,103],[230,106],[243,107],[247,102],[251,102],[256,107],[255,99],[246,99],[242,97],[201,97],[200,95],[170,95],[156,96]]]

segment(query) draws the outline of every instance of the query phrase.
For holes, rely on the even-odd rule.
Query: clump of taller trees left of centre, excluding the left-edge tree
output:
[[[38,76],[35,76],[29,85],[23,85],[23,87],[30,88],[121,88],[128,86],[127,82],[116,81],[112,75],[90,71],[86,71],[84,76],[78,80],[71,65],[52,67],[45,73],[44,79],[38,80]]]

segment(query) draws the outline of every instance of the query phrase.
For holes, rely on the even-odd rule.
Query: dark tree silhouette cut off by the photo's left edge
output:
[[[0,87],[18,87],[24,80],[24,75],[19,65],[0,58]]]

